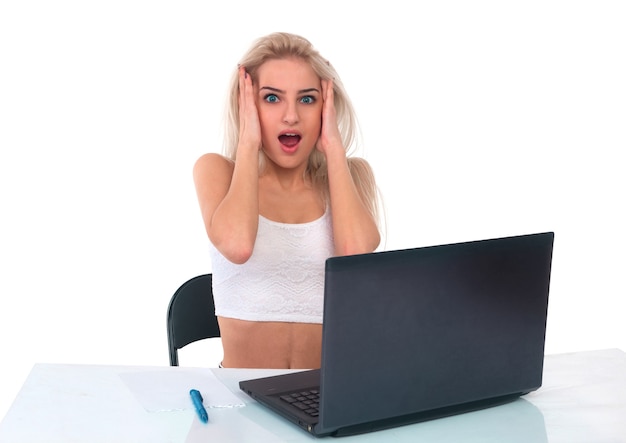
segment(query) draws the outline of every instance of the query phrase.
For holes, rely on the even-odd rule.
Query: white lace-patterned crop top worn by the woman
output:
[[[322,323],[324,267],[333,255],[330,213],[287,224],[259,216],[252,256],[227,260],[210,244],[215,314],[250,321]]]

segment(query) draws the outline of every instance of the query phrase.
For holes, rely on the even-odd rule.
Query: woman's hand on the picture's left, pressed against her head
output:
[[[254,100],[252,77],[239,67],[239,149],[261,149],[261,125]]]

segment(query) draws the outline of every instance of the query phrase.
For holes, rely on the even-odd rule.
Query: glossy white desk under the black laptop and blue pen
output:
[[[285,371],[207,369],[245,406],[210,409],[210,421],[203,425],[192,410],[147,412],[141,407],[120,373],[150,369],[155,368],[37,364],[0,424],[0,442],[317,440],[239,391],[239,380]],[[336,441],[626,442],[626,353],[610,349],[548,355],[543,386],[522,399]]]

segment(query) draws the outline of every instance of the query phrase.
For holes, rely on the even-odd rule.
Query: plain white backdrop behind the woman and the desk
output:
[[[168,364],[169,298],[210,271],[191,168],[277,30],[348,88],[385,249],[553,230],[546,352],[626,350],[624,23],[620,1],[3,1],[0,417],[36,362]]]

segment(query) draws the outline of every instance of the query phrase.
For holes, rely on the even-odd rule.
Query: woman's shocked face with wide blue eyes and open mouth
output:
[[[265,155],[284,168],[306,164],[322,126],[322,86],[298,58],[269,60],[257,70],[256,106]]]

